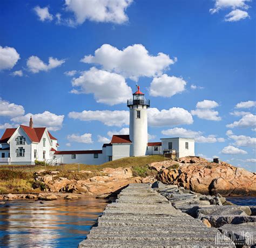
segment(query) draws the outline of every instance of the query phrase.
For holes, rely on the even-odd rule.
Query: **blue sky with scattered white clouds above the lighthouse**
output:
[[[149,141],[256,171],[255,1],[0,2],[0,135],[46,126],[59,150],[128,134],[126,100],[151,100]]]

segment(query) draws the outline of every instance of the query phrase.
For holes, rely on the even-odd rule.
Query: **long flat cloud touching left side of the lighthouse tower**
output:
[[[123,126],[129,124],[129,111],[86,111],[70,112],[69,118],[80,121],[100,121],[107,126]]]

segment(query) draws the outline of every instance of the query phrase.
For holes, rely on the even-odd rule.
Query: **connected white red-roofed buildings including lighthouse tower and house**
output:
[[[176,157],[194,156],[194,139],[170,137],[161,142],[147,142],[147,108],[139,86],[133,98],[127,100],[130,109],[130,135],[113,135],[101,150],[59,151],[58,141],[45,127],[29,126],[7,128],[0,140],[0,164],[35,164],[35,160],[49,164],[102,164],[129,156],[176,154]]]

